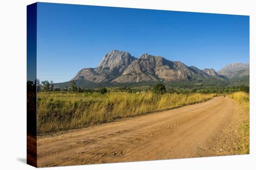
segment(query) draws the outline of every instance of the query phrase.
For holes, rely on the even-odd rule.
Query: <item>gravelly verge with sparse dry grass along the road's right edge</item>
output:
[[[244,129],[249,126],[249,111],[233,101],[235,107],[229,124],[213,137],[209,148],[201,151],[202,157],[249,154],[249,132]]]

